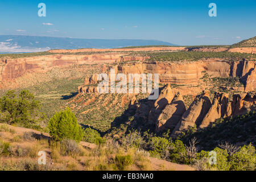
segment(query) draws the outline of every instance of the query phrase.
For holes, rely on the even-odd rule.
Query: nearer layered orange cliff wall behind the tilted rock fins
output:
[[[256,88],[255,64],[256,61],[241,60],[234,62],[218,59],[177,61],[172,63],[134,63],[109,67],[106,69],[106,73],[109,73],[110,68],[113,68],[115,73],[125,73],[127,80],[129,73],[158,73],[160,83],[179,85],[181,94],[192,94],[195,96],[201,90],[207,89],[202,79],[205,73],[211,77],[239,77],[244,84],[244,88],[241,88],[241,91],[254,91]],[[96,84],[97,76],[94,75],[90,78],[85,78],[85,80],[87,81],[79,87],[79,92],[86,92],[86,90],[94,92],[93,90],[96,89],[88,88],[88,85]]]

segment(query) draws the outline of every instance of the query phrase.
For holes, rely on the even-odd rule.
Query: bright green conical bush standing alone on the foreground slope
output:
[[[82,128],[77,123],[75,114],[68,107],[53,115],[49,120],[48,128],[49,134],[58,141],[69,138],[80,142],[83,137]]]

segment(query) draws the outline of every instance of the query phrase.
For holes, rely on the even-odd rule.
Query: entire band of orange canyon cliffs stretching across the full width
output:
[[[158,73],[160,83],[181,86],[181,94],[188,88],[199,91],[204,88],[201,79],[205,73],[211,77],[240,77],[245,91],[255,89],[256,61],[225,61],[220,59],[204,59],[199,61],[174,61],[147,63],[147,56],[127,56],[122,53],[104,53],[93,55],[47,55],[6,59],[0,61],[1,88],[8,87],[9,82],[32,73],[46,73],[53,68],[69,68],[72,65],[93,65],[101,72],[115,68],[118,73]],[[129,63],[135,61],[136,63]],[[110,66],[112,65],[112,66]],[[114,65],[114,66],[113,66]],[[88,79],[88,78],[86,78]],[[199,86],[201,85],[201,86]],[[193,88],[191,88],[193,87]],[[198,88],[196,88],[198,87]],[[194,93],[195,94],[195,93]]]

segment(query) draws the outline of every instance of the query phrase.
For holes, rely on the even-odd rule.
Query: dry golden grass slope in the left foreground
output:
[[[167,167],[156,168],[156,161],[152,163],[148,152],[123,148],[110,140],[104,145],[88,148],[72,140],[55,142],[35,138],[31,132],[11,134],[8,127],[2,128],[5,131],[0,131],[0,150],[5,152],[0,152],[0,170],[167,170]],[[7,147],[3,148],[4,145]],[[38,164],[39,151],[46,151],[46,165]]]

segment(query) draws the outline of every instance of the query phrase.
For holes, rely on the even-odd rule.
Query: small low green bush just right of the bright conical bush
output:
[[[88,127],[84,130],[84,138],[82,139],[85,142],[101,144],[103,143],[103,139],[98,131],[91,129]]]

